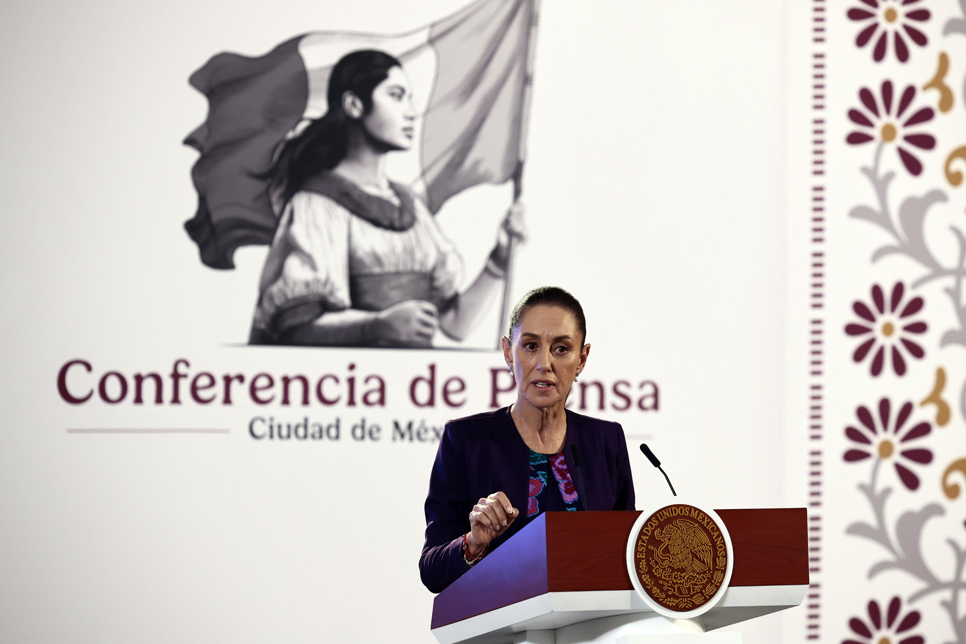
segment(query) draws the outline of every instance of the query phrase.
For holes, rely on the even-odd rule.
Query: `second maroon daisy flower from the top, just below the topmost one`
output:
[[[902,165],[906,167],[910,174],[918,177],[923,172],[923,164],[916,156],[902,147],[899,139],[920,150],[935,148],[936,139],[931,134],[908,131],[909,127],[931,121],[935,113],[931,107],[923,107],[905,121],[902,121],[902,116],[909,109],[913,98],[916,98],[916,88],[912,85],[906,87],[902,96],[899,97],[898,104],[895,105],[895,115],[893,114],[893,81],[883,81],[881,98],[881,103],[876,101],[875,96],[867,87],[859,90],[859,100],[862,101],[866,110],[850,109],[848,118],[849,121],[863,129],[849,132],[845,141],[852,145],[862,145],[875,139],[883,143],[895,141],[895,150],[899,154]]]

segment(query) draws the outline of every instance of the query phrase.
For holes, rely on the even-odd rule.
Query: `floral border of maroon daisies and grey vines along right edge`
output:
[[[871,52],[867,67],[871,82],[856,88],[856,98],[843,116],[850,123],[846,144],[869,151],[868,165],[858,172],[867,181],[874,202],[852,208],[849,216],[887,234],[889,241],[871,257],[873,265],[902,258],[901,266],[915,266],[916,272],[906,281],[872,284],[868,297],[862,294],[853,300],[849,322],[842,332],[856,342],[853,363],[867,369],[868,377],[879,383],[880,390],[885,392],[892,386],[880,381],[886,375],[903,378],[913,370],[921,374],[928,370],[926,373],[934,374],[934,378],[922,400],[903,400],[908,395],[906,385],[901,396],[883,395],[874,404],[857,401],[855,420],[844,427],[849,445],[842,454],[843,462],[857,466],[855,471],[859,472],[865,465],[867,472],[867,478],[858,483],[860,496],[854,514],[868,517],[852,522],[845,531],[879,547],[868,579],[898,571],[903,575],[879,583],[886,586],[899,580],[912,581],[916,590],[904,598],[910,608],[905,614],[903,599],[897,593],[908,585],[886,591],[886,596],[892,596],[888,602],[872,598],[857,606],[860,614],[865,609],[867,619],[852,617],[847,625],[841,625],[843,634],[838,640],[842,644],[923,644],[923,632],[930,631],[920,625],[923,612],[914,608],[923,602],[935,603],[948,617],[945,626],[930,624],[931,632],[950,632],[949,642],[966,644],[966,602],[960,598],[960,593],[966,592],[966,535],[949,534],[932,541],[923,535],[926,523],[945,516],[950,501],[960,495],[960,486],[953,478],[966,476],[966,448],[963,454],[941,453],[930,442],[934,430],[952,428],[961,432],[966,422],[966,378],[956,383],[958,399],[952,399],[951,405],[944,366],[962,364],[962,350],[966,350],[966,219],[955,220],[943,239],[937,239],[935,230],[927,230],[926,225],[934,207],[951,200],[962,203],[966,191],[963,173],[957,169],[966,163],[966,85],[957,99],[947,81],[951,58],[946,49],[966,60],[963,42],[952,41],[966,36],[966,0],[959,0],[959,4],[963,15],[945,21],[943,40],[939,41],[943,50],[936,56],[935,73],[927,79],[914,77],[908,67],[899,68],[901,73],[892,77],[877,78],[881,72],[876,66],[883,61],[905,66],[913,58],[936,55],[936,47],[928,47],[930,29],[936,22],[932,19],[934,8],[926,7],[923,0],[853,0],[843,16],[846,24],[856,28],[855,47]],[[959,109],[953,111],[957,100]],[[956,136],[961,140],[954,140]],[[930,177],[923,173],[925,164],[940,160],[937,156],[945,159],[945,184],[916,190],[921,185],[918,182]],[[896,173],[915,180],[903,182],[913,186],[906,194],[895,194]],[[952,263],[944,261],[937,250],[941,243],[951,240],[958,249]],[[943,319],[930,313],[939,311],[943,303],[952,305],[955,324],[942,329],[937,346],[929,346],[925,340],[927,320],[935,325],[936,320]],[[902,384],[901,379],[889,382]],[[957,422],[951,425],[953,419]],[[933,485],[923,485],[918,470],[934,459],[949,462],[939,485],[931,481]],[[920,505],[893,518],[887,506],[896,482],[919,499]],[[931,568],[923,556],[939,547],[952,550],[952,570]],[[931,611],[933,606],[929,605]]]

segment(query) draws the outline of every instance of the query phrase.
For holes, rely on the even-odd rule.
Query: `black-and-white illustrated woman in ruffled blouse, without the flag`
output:
[[[412,146],[410,81],[375,50],[331,71],[328,111],[290,139],[270,170],[281,214],[262,272],[250,344],[430,347],[461,340],[497,298],[513,205],[479,275],[458,292],[462,260],[433,215],[386,176],[386,155]]]

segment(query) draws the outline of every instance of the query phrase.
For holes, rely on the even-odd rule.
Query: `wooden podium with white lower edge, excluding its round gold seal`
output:
[[[548,512],[433,602],[440,644],[732,644],[707,631],[798,605],[809,587],[805,508],[718,510],[733,547],[724,596],[687,620],[658,614],[628,574],[639,512]]]

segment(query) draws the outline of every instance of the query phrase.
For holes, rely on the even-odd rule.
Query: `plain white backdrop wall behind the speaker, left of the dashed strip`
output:
[[[5,4],[3,639],[433,641],[416,560],[436,443],[394,440],[393,423],[441,427],[491,408],[501,356],[245,346],[266,248],[241,249],[232,271],[201,265],[182,227],[197,153],[181,141],[207,109],[187,76],[214,53],[259,55],[312,30],[398,33],[461,6]],[[806,504],[802,419],[791,405],[784,413],[797,400],[788,356],[801,350],[784,330],[795,311],[784,213],[795,180],[783,11],[764,0],[544,3],[529,239],[512,296],[549,283],[582,300],[592,345],[582,380],[608,392],[603,408],[591,396],[583,411],[623,424],[639,505],[666,494],[641,440],[679,492],[712,507]],[[468,273],[509,199],[506,185],[481,186],[440,212]],[[466,346],[492,346],[496,330],[494,307]],[[333,374],[343,400],[260,405],[236,393],[231,405],[203,405],[188,400],[185,379],[174,405],[167,375],[182,358],[189,378]],[[156,372],[164,403],[129,394],[110,405],[95,392],[71,405],[57,378],[73,359],[93,370],[71,369],[75,395],[110,371]],[[438,386],[465,380],[461,406],[439,392],[433,406],[412,404],[412,378],[430,365]],[[353,375],[360,392],[363,378],[383,378],[384,405],[348,405]],[[644,393],[654,385],[639,383],[655,383],[656,403],[643,401],[655,408],[622,410],[618,380]],[[257,417],[337,419],[340,439],[257,440]],[[362,418],[380,439],[352,438]],[[69,432],[164,428],[224,432]],[[802,609],[783,619],[787,641],[800,639]],[[746,641],[779,640],[781,621],[748,625]]]

